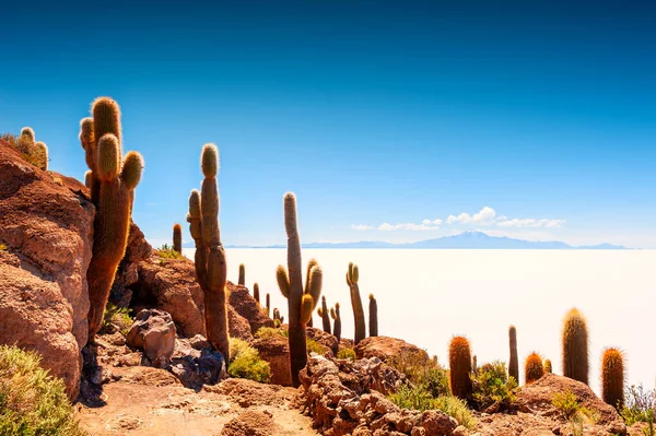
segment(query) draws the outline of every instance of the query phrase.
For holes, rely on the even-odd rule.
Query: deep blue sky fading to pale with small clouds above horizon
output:
[[[306,243],[656,248],[653,1],[65,3],[3,5],[0,131],[82,178],[79,120],[116,98],[155,245],[214,142],[226,245],[283,243],[292,190]]]

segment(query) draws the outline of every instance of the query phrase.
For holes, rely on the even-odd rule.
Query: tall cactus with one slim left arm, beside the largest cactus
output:
[[[204,179],[201,192],[189,197],[189,229],[196,244],[196,276],[204,297],[204,321],[208,341],[230,362],[227,308],[225,295],[225,251],[219,228],[219,150],[214,144],[202,148],[201,168]]]

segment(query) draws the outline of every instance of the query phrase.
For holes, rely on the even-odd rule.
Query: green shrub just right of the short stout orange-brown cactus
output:
[[[473,400],[480,410],[488,409],[494,403],[499,403],[502,410],[507,410],[515,401],[514,390],[517,388],[517,380],[507,376],[505,363],[501,361],[484,364],[471,380]]]

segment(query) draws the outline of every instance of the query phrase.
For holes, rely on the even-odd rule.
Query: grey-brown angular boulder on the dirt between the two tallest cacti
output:
[[[126,341],[143,350],[154,367],[164,368],[175,350],[175,323],[165,311],[143,309],[137,314]]]

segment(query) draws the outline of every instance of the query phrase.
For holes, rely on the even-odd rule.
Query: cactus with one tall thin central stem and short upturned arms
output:
[[[288,270],[279,266],[276,272],[280,292],[288,299],[289,343],[292,385],[301,386],[298,373],[307,364],[305,326],[312,319],[321,293],[323,272],[316,260],[307,264],[305,290],[301,261],[301,239],[296,225],[296,196],[284,195],[284,227],[288,235]]]

